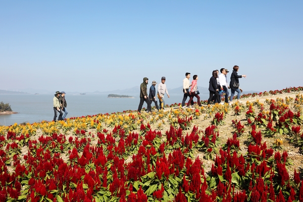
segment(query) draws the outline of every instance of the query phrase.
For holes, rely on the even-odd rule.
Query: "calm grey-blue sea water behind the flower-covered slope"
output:
[[[137,110],[140,102],[138,94],[128,95],[134,98],[108,98],[107,94],[66,94],[68,111],[66,118]],[[206,94],[199,96],[201,100],[208,99]],[[0,115],[0,125],[52,121],[54,118],[53,98],[52,94],[0,94],[0,102],[9,103],[12,110],[18,113]],[[182,102],[182,98],[183,94],[170,94],[170,98],[165,95],[165,103],[168,105],[179,104]],[[193,100],[196,102],[195,97]],[[155,104],[152,103],[151,106],[153,107]],[[144,103],[143,108],[146,107],[147,105]],[[57,119],[58,116],[59,113],[57,113]]]

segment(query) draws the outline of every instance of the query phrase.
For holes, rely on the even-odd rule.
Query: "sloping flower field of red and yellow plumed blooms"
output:
[[[0,201],[303,201],[302,93],[0,126]]]

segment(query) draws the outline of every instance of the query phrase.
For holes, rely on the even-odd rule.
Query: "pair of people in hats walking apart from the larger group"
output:
[[[62,91],[57,91],[55,94],[55,97],[53,98],[53,103],[54,103],[54,121],[56,122],[57,119],[57,112],[59,113],[58,121],[64,120],[66,115],[68,114],[66,107],[66,99],[65,99],[65,92]],[[63,114],[64,112],[64,114]]]

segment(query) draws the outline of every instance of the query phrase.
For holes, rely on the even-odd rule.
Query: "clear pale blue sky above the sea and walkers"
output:
[[[244,90],[302,86],[303,1],[0,1],[0,89],[208,87],[234,65]],[[229,74],[230,74],[229,73]]]

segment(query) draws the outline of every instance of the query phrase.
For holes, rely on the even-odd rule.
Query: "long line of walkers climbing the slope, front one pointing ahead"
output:
[[[241,95],[241,89],[239,88],[239,78],[245,77],[246,75],[238,75],[239,71],[239,66],[235,65],[233,67],[233,71],[230,76],[230,82],[228,83],[227,79],[227,73],[229,72],[227,69],[220,69],[221,74],[219,75],[219,70],[214,70],[212,73],[212,77],[210,78],[209,82],[209,92],[210,92],[210,97],[208,99],[208,104],[211,104],[211,102],[221,103],[221,96],[219,95],[219,92],[225,92],[225,103],[231,104],[233,100],[233,96],[235,92],[237,92],[237,99],[239,101],[240,95]],[[198,81],[198,75],[193,75],[192,81],[190,83],[190,73],[186,72],[185,73],[185,78],[183,79],[183,99],[182,99],[182,104],[181,106],[183,108],[185,107],[193,107],[193,98],[197,98],[197,104],[198,106],[201,106],[200,103],[200,96],[198,87],[197,87],[197,81]],[[144,77],[143,82],[140,85],[140,103],[138,107],[138,112],[141,112],[142,106],[144,102],[147,104],[147,110],[148,112],[151,112],[151,103],[154,102],[156,109],[164,109],[165,101],[164,101],[164,95],[165,93],[169,97],[166,84],[165,84],[166,78],[162,77],[161,78],[161,83],[158,84],[158,91],[156,93],[156,81],[153,81],[151,83],[151,86],[149,88],[149,95],[147,94],[147,84],[148,84],[148,78]],[[229,92],[228,89],[231,90],[231,95],[230,95],[230,101],[228,101],[228,96]],[[158,106],[157,99],[156,99],[156,94],[157,97],[159,98],[159,103],[160,105]],[[185,104],[187,97],[189,97],[188,103]]]

